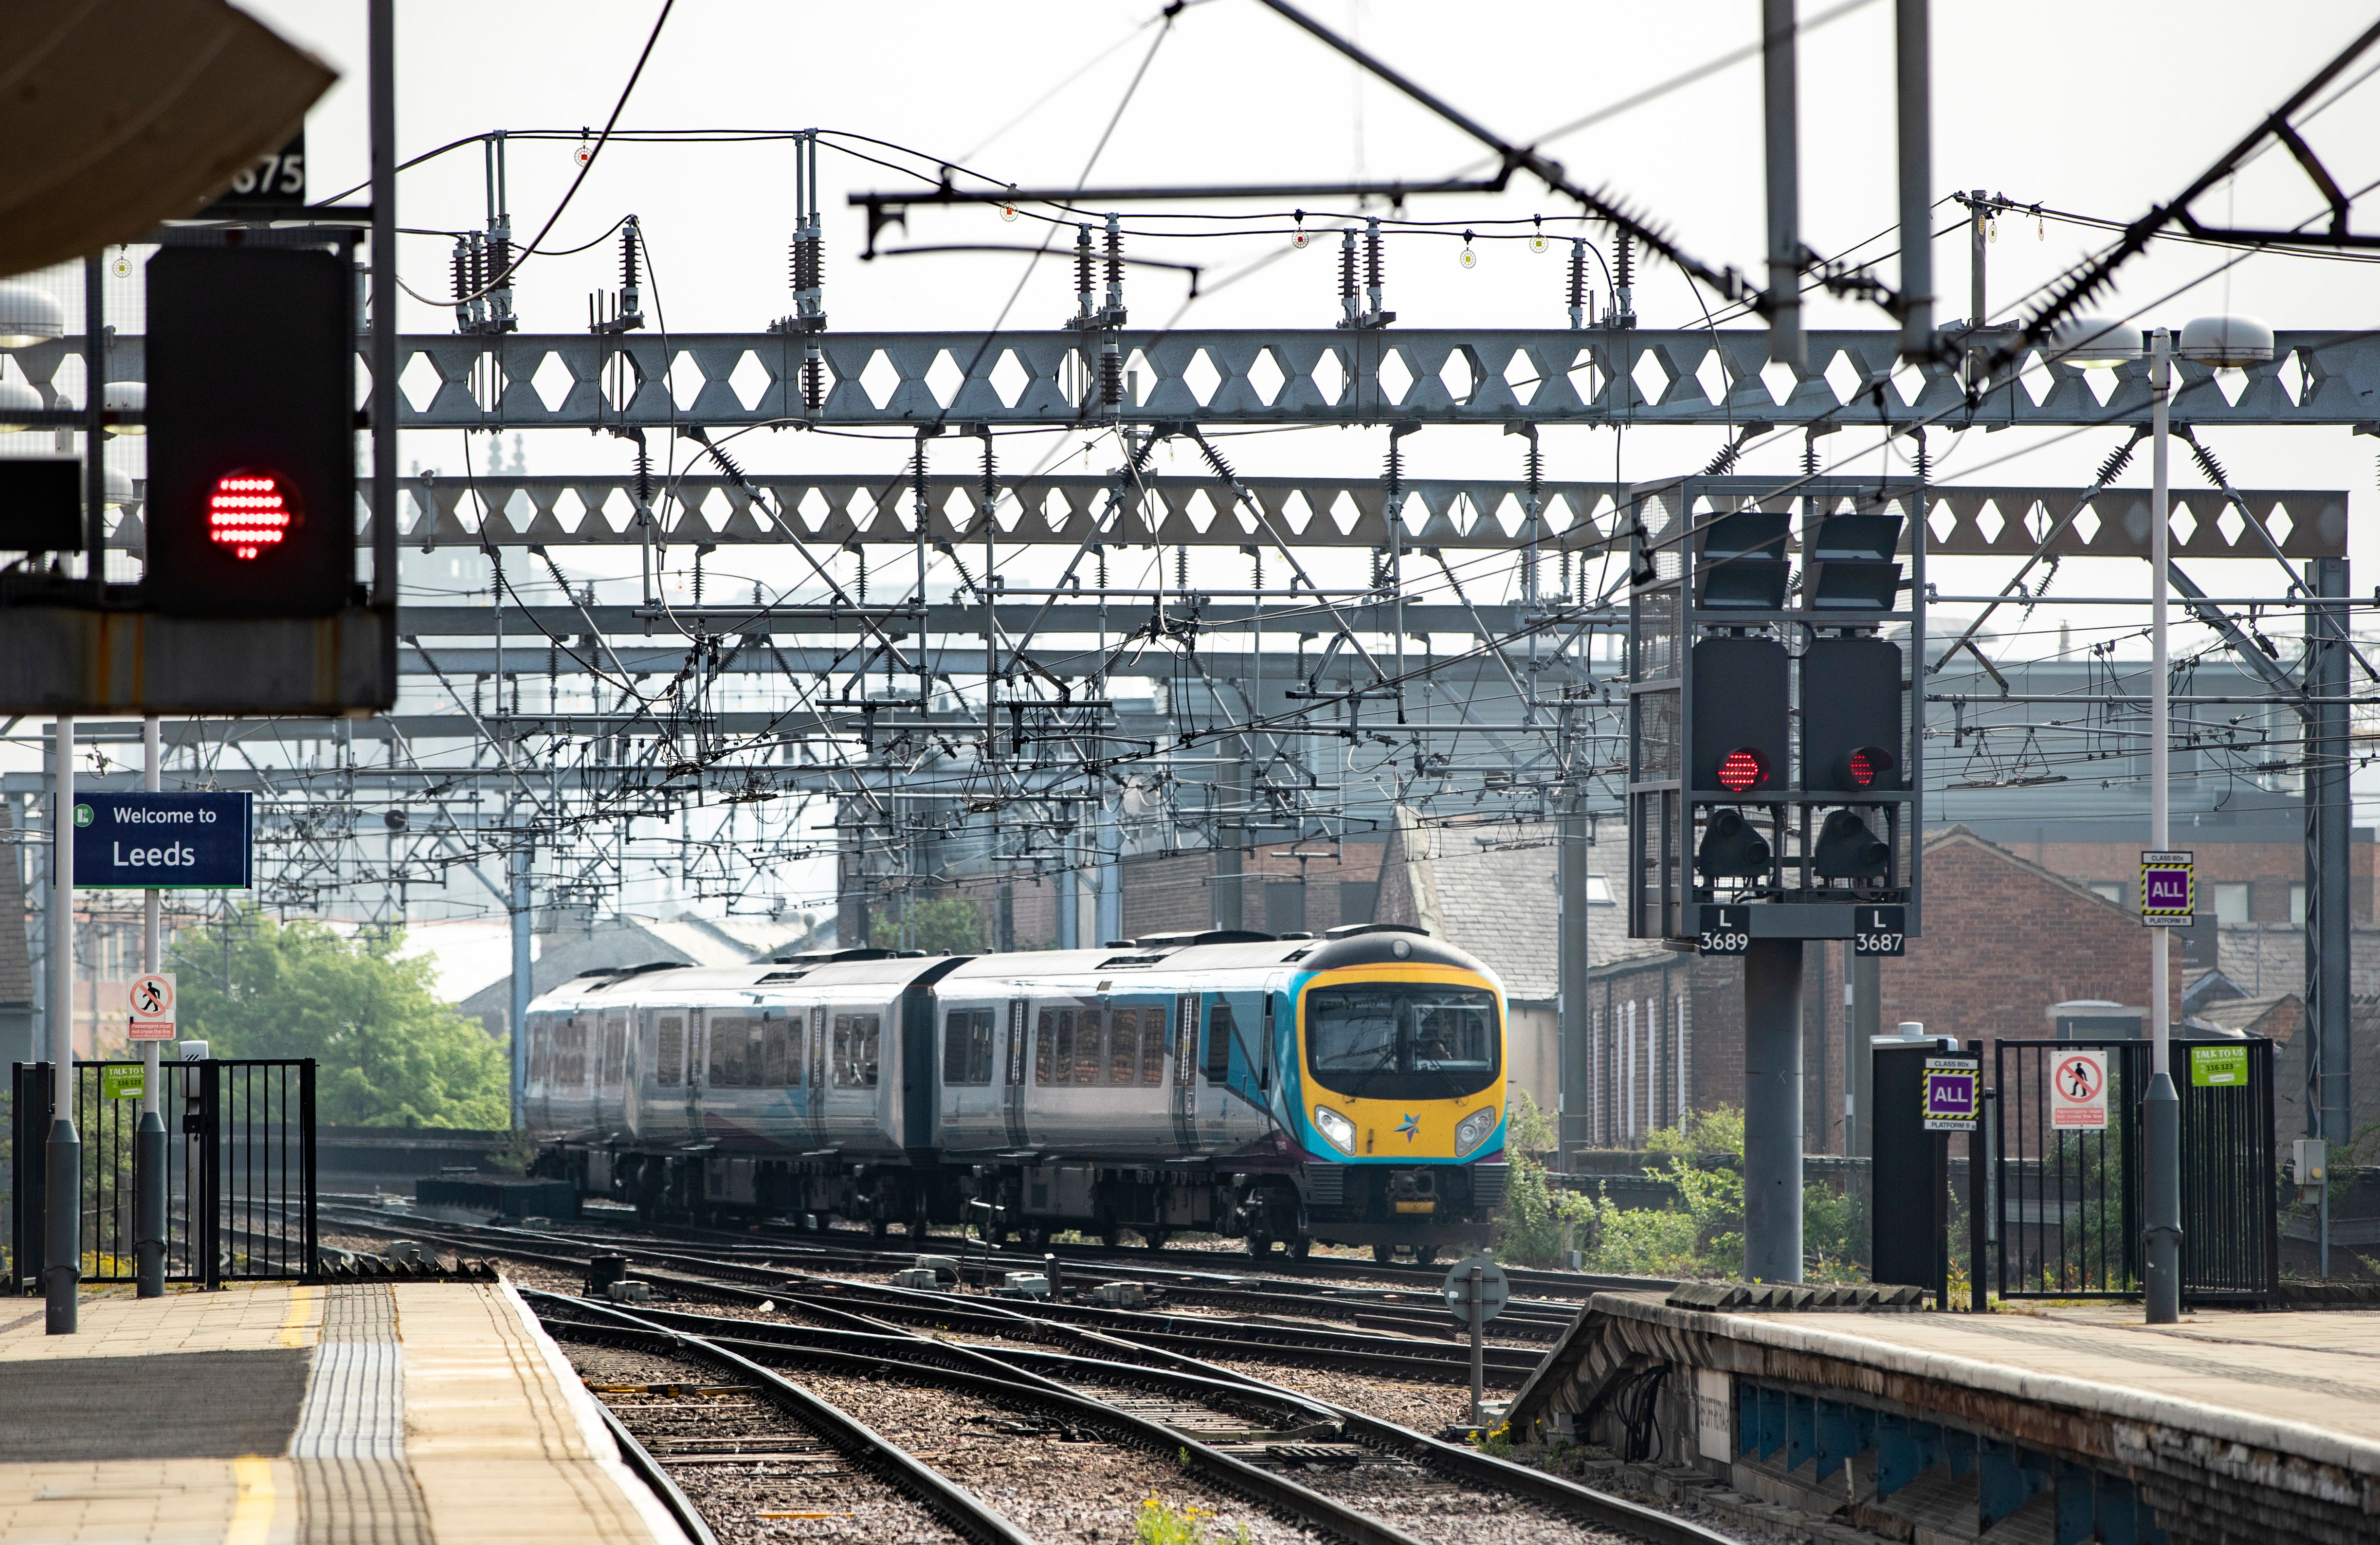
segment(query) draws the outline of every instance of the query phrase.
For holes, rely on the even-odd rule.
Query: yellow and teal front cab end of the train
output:
[[[1485,1245],[1504,1205],[1504,993],[1418,931],[1316,947],[1290,983],[1304,1228],[1378,1259]]]

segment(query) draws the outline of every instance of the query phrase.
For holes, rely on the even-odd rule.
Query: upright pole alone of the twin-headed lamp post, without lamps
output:
[[[2173,745],[2171,683],[2166,681],[2166,545],[2173,528],[2173,483],[2166,464],[2166,407],[2173,398],[2173,336],[2149,338],[2149,847],[2173,843],[2166,776]],[[2163,928],[2149,928],[2149,1097],[2142,1112],[2147,1138],[2147,1238],[2142,1240],[2147,1319],[2171,1326],[2182,1316],[2182,1105],[2173,1093],[2173,1014],[2168,1009],[2173,952]]]

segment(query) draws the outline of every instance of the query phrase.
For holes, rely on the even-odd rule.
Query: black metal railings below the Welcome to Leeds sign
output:
[[[129,1283],[136,1271],[140,1102],[102,1097],[107,1067],[138,1064],[74,1064],[86,1283]],[[167,1062],[159,1076],[167,1281],[205,1288],[309,1281],[317,1271],[314,1059]],[[48,1062],[12,1064],[7,1281],[19,1293],[40,1293],[52,1090]]]

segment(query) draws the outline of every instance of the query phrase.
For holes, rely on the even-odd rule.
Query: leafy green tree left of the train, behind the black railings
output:
[[[326,1126],[509,1126],[505,1047],[402,940],[240,909],[174,945],[181,1033],[217,1057],[314,1057]]]

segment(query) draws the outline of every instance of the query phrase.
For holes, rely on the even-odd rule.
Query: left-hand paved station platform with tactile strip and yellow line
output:
[[[0,1543],[683,1545],[505,1283],[0,1300]]]

